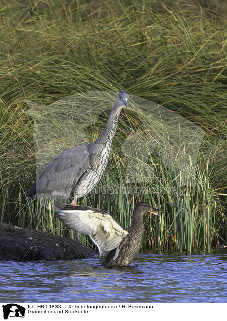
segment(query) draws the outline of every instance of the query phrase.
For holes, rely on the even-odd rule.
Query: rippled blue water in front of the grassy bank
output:
[[[131,266],[98,258],[0,262],[0,302],[227,302],[227,253],[141,254]]]

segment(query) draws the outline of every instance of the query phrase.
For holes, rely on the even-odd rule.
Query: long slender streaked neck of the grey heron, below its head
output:
[[[109,114],[108,121],[101,135],[96,139],[95,143],[110,147],[113,136],[115,136],[116,128],[118,125],[118,117],[122,107],[112,108]]]

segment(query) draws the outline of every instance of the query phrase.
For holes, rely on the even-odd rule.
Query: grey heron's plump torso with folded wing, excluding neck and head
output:
[[[100,157],[103,159],[102,163],[97,162]],[[75,196],[80,198],[98,183],[107,161],[108,153],[96,143],[68,149],[51,159],[32,185],[28,198],[35,198],[37,194],[63,199]]]

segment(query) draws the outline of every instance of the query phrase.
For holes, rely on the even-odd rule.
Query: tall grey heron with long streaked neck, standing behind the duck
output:
[[[79,145],[51,159],[30,188],[27,199],[43,197],[80,198],[89,193],[100,180],[109,157],[118,117],[129,95],[119,92],[112,106],[107,124],[91,144]]]

